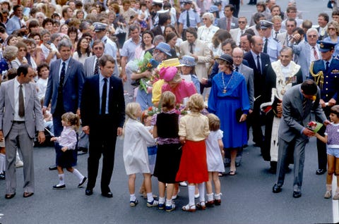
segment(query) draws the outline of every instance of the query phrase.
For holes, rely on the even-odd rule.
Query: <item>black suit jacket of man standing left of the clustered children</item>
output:
[[[81,96],[81,121],[83,126],[95,126],[100,116],[100,75],[89,77],[83,85]],[[125,120],[124,87],[118,77],[109,77],[108,116],[115,127],[123,127]],[[110,125],[107,123],[107,125]]]

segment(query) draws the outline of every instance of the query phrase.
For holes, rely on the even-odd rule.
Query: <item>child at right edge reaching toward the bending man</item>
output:
[[[331,125],[326,126],[325,136],[318,133],[315,136],[327,144],[327,177],[326,177],[326,193],[324,198],[332,197],[332,180],[333,173],[337,176],[337,189],[333,196],[333,200],[339,200],[339,105],[331,107],[330,113]]]

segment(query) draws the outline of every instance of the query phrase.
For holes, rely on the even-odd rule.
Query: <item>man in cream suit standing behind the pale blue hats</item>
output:
[[[186,41],[180,44],[180,55],[194,57],[196,61],[196,76],[198,77],[198,80],[201,81],[203,77],[207,78],[208,68],[206,63],[209,63],[212,60],[210,49],[206,42],[198,39],[198,35],[194,28],[190,27],[186,30],[186,39]]]

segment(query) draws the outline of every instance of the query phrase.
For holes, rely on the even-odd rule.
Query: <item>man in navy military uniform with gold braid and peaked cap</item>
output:
[[[332,42],[319,42],[322,59],[312,62],[310,68],[310,77],[315,80],[321,90],[320,105],[327,117],[330,116],[330,108],[338,104],[339,61],[333,58],[334,47],[335,44]],[[318,119],[316,118],[316,120]],[[325,127],[321,127],[318,133],[323,136]],[[318,150],[316,175],[322,175],[326,173],[326,144],[316,139],[316,148]]]

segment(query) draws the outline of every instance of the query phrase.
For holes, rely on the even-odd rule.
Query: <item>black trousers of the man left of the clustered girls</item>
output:
[[[109,183],[114,167],[115,144],[117,142],[117,125],[106,116],[96,119],[90,126],[88,157],[88,189],[95,187],[99,162],[102,156],[101,192],[110,192]]]

